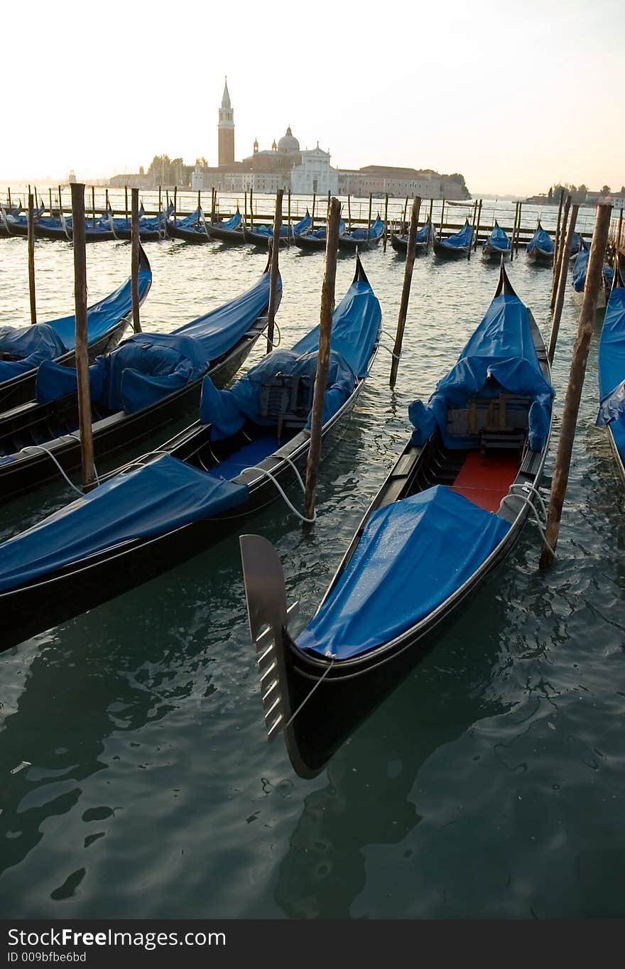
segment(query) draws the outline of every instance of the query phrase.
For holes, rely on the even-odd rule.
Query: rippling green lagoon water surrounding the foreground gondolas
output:
[[[233,297],[265,261],[177,242],[147,251],[145,329]],[[0,259],[0,325],[15,324],[24,240],[0,240]],[[393,330],[403,261],[380,246],[363,263]],[[129,248],[88,247],[88,265],[95,299],[127,274]],[[290,251],[281,269],[288,346],[318,320],[323,259]],[[71,311],[71,248],[38,244],[37,270],[40,318]],[[337,296],[353,271],[339,261]],[[548,332],[549,270],[519,254],[510,276]],[[418,260],[396,390],[381,351],[322,466],[314,530],[278,502],[250,520],[278,548],[300,624],[401,451],[408,403],[452,365],[496,280],[479,258]],[[569,292],[547,473],[578,309]],[[235,537],[0,655],[0,915],[622,916],[625,491],[594,426],[596,369],[595,336],[554,568],[537,572],[528,524],[313,781],[281,741],[266,744]],[[0,509],[0,536],[71,497],[59,484]]]

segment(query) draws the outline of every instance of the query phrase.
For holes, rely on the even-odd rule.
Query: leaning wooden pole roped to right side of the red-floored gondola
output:
[[[583,291],[581,312],[579,313],[578,336],[573,348],[569,386],[564,401],[564,411],[560,424],[560,439],[558,441],[558,450],[555,456],[555,467],[551,482],[546,530],[547,544],[550,548],[547,545],[543,547],[540,560],[540,567],[542,569],[548,568],[553,562],[553,552],[550,549],[555,550],[557,545],[562,508],[569,483],[569,469],[571,466],[576,424],[578,422],[579,400],[581,399],[581,391],[583,388],[590,339],[595,328],[597,297],[602,286],[603,265],[606,245],[608,243],[610,210],[610,205],[597,205],[595,229],[592,235],[590,257],[586,270],[586,285]]]

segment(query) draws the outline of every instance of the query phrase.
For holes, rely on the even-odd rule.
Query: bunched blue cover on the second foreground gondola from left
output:
[[[281,289],[278,276],[278,293]],[[135,333],[91,364],[91,398],[109,410],[133,414],[199,380],[211,361],[228,353],[266,312],[268,299],[264,272],[247,293],[172,333]],[[37,374],[37,400],[56,400],[77,385],[75,369],[47,362]]]

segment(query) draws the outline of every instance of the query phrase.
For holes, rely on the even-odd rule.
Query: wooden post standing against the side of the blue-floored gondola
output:
[[[321,316],[319,323],[319,349],[317,351],[317,373],[310,421],[310,447],[306,462],[306,491],[304,498],[304,517],[308,522],[315,512],[315,490],[321,457],[321,435],[324,425],[324,403],[328,384],[329,344],[332,331],[332,312],[334,310],[334,287],[336,283],[336,254],[338,251],[338,223],[341,217],[341,203],[331,199],[328,208],[328,232],[326,233],[326,271],[321,291]]]

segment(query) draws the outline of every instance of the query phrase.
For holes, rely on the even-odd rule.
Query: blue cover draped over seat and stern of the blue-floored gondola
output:
[[[357,376],[366,374],[382,324],[382,310],[368,282],[352,284],[332,315],[331,351],[328,366],[328,388],[324,402],[324,422],[347,400],[356,385]],[[200,420],[212,425],[215,440],[230,437],[245,419],[260,424],[274,424],[260,416],[261,392],[278,373],[315,378],[319,327],[315,327],[293,350],[274,350],[266,359],[239,378],[230,390],[218,391],[209,377],[204,377]]]

